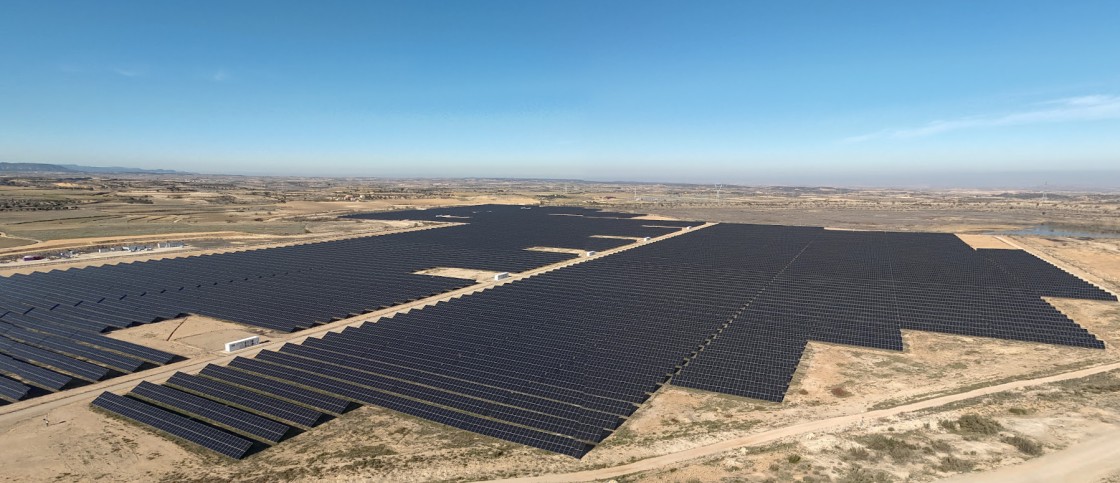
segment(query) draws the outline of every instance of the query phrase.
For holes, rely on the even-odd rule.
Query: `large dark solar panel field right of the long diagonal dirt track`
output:
[[[375,405],[581,457],[668,382],[782,400],[810,340],[899,351],[900,329],[916,328],[1103,347],[1040,297],[1111,296],[1046,267],[953,235],[721,224],[199,377],[323,412]],[[1025,281],[1037,273],[1045,287]],[[187,379],[168,384],[279,419]]]

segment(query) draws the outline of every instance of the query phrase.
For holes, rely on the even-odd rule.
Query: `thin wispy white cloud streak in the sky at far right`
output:
[[[1120,95],[1084,95],[1035,104],[1036,109],[1000,115],[976,115],[948,121],[933,121],[916,128],[884,129],[844,138],[846,143],[877,139],[914,139],[967,129],[998,128],[1055,122],[1100,121],[1120,119]]]

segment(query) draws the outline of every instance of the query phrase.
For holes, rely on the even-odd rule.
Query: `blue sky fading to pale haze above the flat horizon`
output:
[[[1120,186],[1117,1],[4,3],[7,161]]]

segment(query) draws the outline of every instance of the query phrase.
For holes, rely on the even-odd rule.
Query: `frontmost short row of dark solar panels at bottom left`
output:
[[[253,446],[249,439],[112,392],[102,392],[91,405],[234,459]]]

